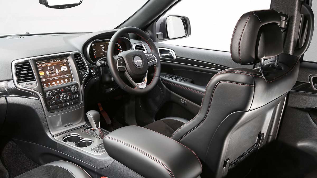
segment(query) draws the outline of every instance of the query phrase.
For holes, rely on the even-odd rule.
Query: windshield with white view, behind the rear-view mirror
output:
[[[0,2],[0,35],[94,32],[114,29],[147,0],[83,0],[79,6],[51,9],[38,0]]]

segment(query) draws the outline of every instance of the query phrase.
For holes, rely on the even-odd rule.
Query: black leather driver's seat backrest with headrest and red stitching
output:
[[[298,58],[281,54],[280,22],[275,10],[241,16],[232,35],[232,60],[256,64],[268,59],[263,72],[231,68],[214,75],[197,116],[171,136],[193,149],[216,177],[226,175],[244,155],[257,150],[260,140],[266,143],[276,108],[297,80]],[[272,67],[277,55],[279,68]]]

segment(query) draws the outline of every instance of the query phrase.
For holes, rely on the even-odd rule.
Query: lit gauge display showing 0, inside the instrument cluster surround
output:
[[[94,58],[107,57],[107,50],[110,40],[96,40],[91,44]],[[115,44],[113,55],[118,55],[122,52],[122,47],[119,43]]]

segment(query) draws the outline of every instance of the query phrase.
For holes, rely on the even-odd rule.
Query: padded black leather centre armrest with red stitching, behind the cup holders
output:
[[[202,171],[191,149],[143,127],[122,127],[108,134],[103,142],[113,159],[144,177],[197,178]]]

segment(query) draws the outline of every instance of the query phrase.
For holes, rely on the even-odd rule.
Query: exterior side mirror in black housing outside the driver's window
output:
[[[185,16],[165,16],[156,35],[159,40],[186,38],[191,35],[191,24]]]

